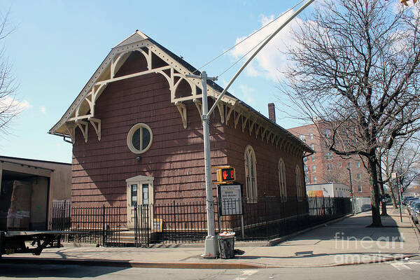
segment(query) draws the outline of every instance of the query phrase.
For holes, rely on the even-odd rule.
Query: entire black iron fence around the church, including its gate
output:
[[[134,208],[134,228],[117,207],[53,207],[52,229],[82,231],[69,241],[148,246],[153,243],[201,242],[207,235],[206,201],[145,204]],[[214,202],[216,234],[233,231],[238,240],[273,239],[351,213],[349,198],[259,197]],[[70,214],[70,215],[68,215]],[[125,230],[125,232],[124,232]],[[127,237],[121,238],[122,232]],[[132,232],[132,241],[130,234]],[[128,238],[128,239],[127,239]],[[128,241],[124,241],[128,240]]]

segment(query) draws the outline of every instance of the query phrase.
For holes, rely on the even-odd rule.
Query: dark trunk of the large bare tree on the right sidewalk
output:
[[[367,172],[369,172],[370,182],[370,206],[372,207],[372,224],[371,227],[381,227],[381,214],[379,213],[379,187],[377,174],[377,158],[375,153],[370,153],[367,159]]]

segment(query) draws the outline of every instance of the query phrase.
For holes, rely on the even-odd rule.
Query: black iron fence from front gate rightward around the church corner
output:
[[[136,213],[138,244],[197,242],[207,235],[204,200],[143,205]],[[233,231],[238,240],[273,239],[349,213],[348,198],[266,196],[214,204],[216,233]]]

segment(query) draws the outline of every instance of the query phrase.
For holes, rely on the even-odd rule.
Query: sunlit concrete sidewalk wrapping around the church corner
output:
[[[404,209],[405,211],[405,209]],[[370,211],[344,218],[297,235],[277,246],[241,246],[245,251],[235,259],[208,260],[200,255],[201,246],[172,248],[63,247],[48,248],[41,255],[3,255],[2,262],[76,263],[124,267],[171,268],[262,268],[262,267],[328,267],[367,262],[381,262],[419,254],[419,234],[407,212],[400,222],[399,210],[388,207],[382,217],[384,228],[367,228]],[[261,243],[257,243],[257,245]]]

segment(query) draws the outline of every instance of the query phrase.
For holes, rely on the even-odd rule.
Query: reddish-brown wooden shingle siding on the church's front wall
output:
[[[139,56],[141,57],[141,56]],[[139,57],[137,57],[139,59]],[[137,71],[141,59],[127,60],[118,72]],[[140,66],[141,67],[141,66]],[[137,70],[136,70],[137,69]],[[102,120],[102,139],[92,126],[85,143],[76,130],[73,145],[72,202],[77,207],[102,204],[126,207],[125,179],[155,178],[155,203],[204,197],[204,153],[202,125],[195,104],[188,107],[188,127],[183,128],[176,106],[170,102],[169,84],[160,74],[149,74],[109,84],[96,102],[95,116]],[[213,165],[225,165],[224,130],[216,111],[211,125]],[[127,133],[137,123],[146,123],[153,132],[153,144],[137,155],[127,147]],[[216,150],[217,148],[217,150]]]

